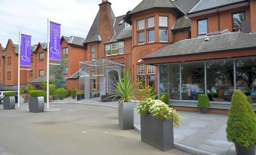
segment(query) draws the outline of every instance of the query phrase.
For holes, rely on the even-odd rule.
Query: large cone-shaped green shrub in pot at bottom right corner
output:
[[[237,155],[255,155],[256,116],[241,90],[233,93],[226,132],[227,140],[235,143]]]

